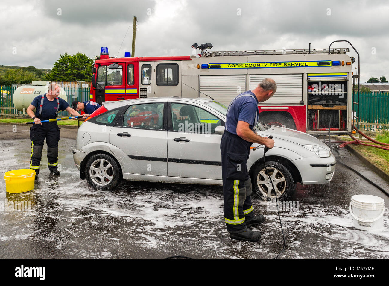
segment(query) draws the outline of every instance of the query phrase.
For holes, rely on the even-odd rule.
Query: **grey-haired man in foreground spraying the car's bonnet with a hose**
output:
[[[258,241],[259,232],[248,227],[265,221],[263,215],[254,215],[251,204],[251,178],[247,170],[250,146],[253,143],[269,149],[274,140],[255,133],[258,122],[258,102],[268,100],[275,93],[277,84],[264,79],[252,91],[235,97],[227,110],[226,127],[221,138],[221,168],[223,178],[224,221],[231,239]]]

